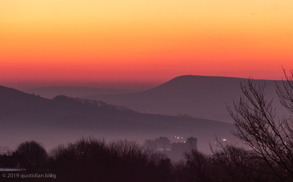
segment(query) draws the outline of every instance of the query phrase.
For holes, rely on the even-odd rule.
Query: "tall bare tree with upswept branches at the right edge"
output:
[[[293,82],[286,74],[285,78],[284,90],[278,85],[276,90],[281,104],[292,114]],[[265,83],[254,84],[253,79],[241,84],[246,99],[234,102],[236,115],[228,107],[237,128],[232,133],[266,163],[269,168],[266,173],[275,175],[279,181],[293,181],[293,120],[291,117],[275,119],[273,100],[265,99],[265,87]]]

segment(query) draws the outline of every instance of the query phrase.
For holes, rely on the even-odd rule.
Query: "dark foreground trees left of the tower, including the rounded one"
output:
[[[52,181],[170,181],[175,171],[165,154],[128,140],[106,143],[83,137],[49,152],[40,143],[27,141],[9,154],[0,156],[0,167],[24,168],[27,174],[51,173],[56,176]]]

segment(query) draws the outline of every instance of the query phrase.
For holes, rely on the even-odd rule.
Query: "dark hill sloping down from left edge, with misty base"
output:
[[[233,124],[225,122],[56,101],[3,86],[0,86],[0,122],[1,145],[9,147],[36,140],[50,149],[89,135],[106,140],[127,138],[141,143],[145,139],[167,136],[172,142],[183,142],[191,131],[198,138],[198,148],[206,152],[215,135],[237,142],[230,133]]]

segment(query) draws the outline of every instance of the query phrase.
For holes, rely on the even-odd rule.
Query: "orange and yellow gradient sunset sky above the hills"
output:
[[[292,10],[292,0],[1,0],[0,85],[280,80],[282,65],[293,69]]]

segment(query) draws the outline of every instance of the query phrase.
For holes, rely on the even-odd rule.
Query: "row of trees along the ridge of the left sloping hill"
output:
[[[128,109],[124,107],[123,105],[121,106],[116,106],[112,104],[107,104],[102,101],[96,101],[96,100],[89,100],[89,99],[80,99],[78,97],[73,98],[73,97],[68,97],[66,95],[57,95],[53,97],[53,100],[56,101],[61,101],[61,102],[68,102],[68,103],[75,103],[75,104],[86,104],[94,107],[99,107],[99,108],[105,108],[105,109],[112,109],[112,110],[121,110],[121,111],[128,111],[128,112],[137,112],[135,110]]]

